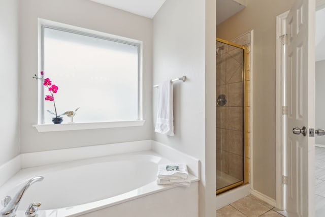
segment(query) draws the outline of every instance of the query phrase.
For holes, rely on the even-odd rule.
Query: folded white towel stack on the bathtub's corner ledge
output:
[[[178,170],[167,171],[167,166],[178,166]],[[157,177],[160,179],[187,179],[189,178],[187,166],[185,164],[159,164]]]

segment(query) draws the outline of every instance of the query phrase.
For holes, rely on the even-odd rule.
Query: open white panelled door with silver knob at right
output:
[[[313,217],[315,127],[315,0],[297,0],[286,18],[287,176],[289,216]],[[293,133],[306,127],[306,135]],[[296,131],[296,133],[299,133]]]

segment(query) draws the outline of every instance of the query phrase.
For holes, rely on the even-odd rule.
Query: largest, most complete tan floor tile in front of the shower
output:
[[[269,207],[270,205],[267,206],[262,204],[259,199],[254,196],[244,197],[235,201],[231,205],[249,217],[257,217],[271,209]]]

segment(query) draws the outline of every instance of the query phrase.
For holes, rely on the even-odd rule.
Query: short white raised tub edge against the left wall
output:
[[[0,186],[15,175],[21,169],[21,156],[18,154],[15,158],[0,166]]]

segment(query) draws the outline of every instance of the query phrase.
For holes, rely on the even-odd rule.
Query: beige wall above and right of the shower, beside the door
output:
[[[247,0],[246,8],[217,26],[217,37],[232,39],[254,30],[252,46],[252,188],[276,199],[275,57],[276,16],[294,0]]]

